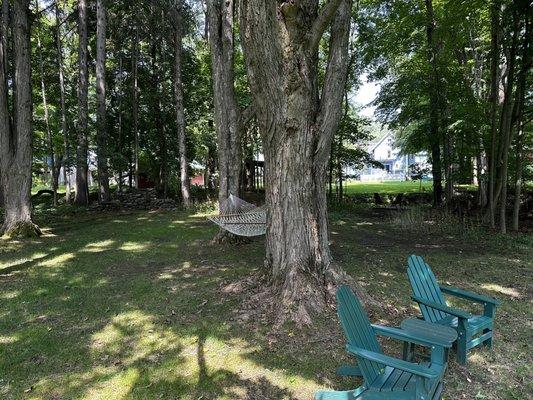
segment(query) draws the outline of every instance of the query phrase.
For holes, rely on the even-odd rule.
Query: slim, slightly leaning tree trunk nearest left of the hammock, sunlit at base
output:
[[[184,207],[191,202],[189,161],[187,158],[187,141],[185,136],[185,113],[183,109],[183,81],[181,77],[181,53],[183,48],[182,18],[177,13],[174,27],[174,98],[176,100],[176,126],[178,128],[178,145],[180,155],[181,199]]]

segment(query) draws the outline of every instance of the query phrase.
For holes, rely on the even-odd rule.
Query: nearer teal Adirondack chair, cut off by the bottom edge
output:
[[[371,325],[361,303],[347,286],[337,291],[338,315],[348,339],[346,348],[355,355],[364,383],[348,391],[320,391],[316,400],[438,400],[446,370],[445,347],[397,328]],[[431,362],[417,364],[383,354],[376,334],[422,346],[431,351]],[[359,370],[357,371],[359,372]]]

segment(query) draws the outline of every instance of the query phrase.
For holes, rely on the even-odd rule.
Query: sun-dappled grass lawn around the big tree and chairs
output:
[[[263,240],[210,243],[216,228],[182,212],[50,218],[45,235],[0,241],[0,398],[310,399],[349,389],[336,316],[269,335],[239,289],[259,270]],[[406,258],[427,258],[443,283],[497,296],[494,351],[451,361],[445,399],[529,399],[531,237],[405,231],[370,211],[332,214],[336,261],[383,304],[373,322],[417,313]],[[389,354],[401,344],[385,340]]]

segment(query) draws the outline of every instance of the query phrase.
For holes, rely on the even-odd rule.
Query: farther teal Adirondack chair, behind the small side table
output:
[[[431,268],[420,256],[409,256],[407,274],[413,289],[412,299],[418,303],[424,319],[457,330],[457,360],[461,364],[466,364],[470,349],[480,344],[492,347],[494,313],[496,306],[501,304],[500,301],[452,286],[439,285]],[[483,315],[472,315],[449,307],[443,293],[483,304]]]

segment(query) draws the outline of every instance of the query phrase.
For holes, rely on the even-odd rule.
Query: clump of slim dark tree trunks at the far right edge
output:
[[[531,4],[516,4],[512,9],[511,38],[501,38],[502,6],[493,0],[491,7],[491,135],[489,161],[488,220],[496,227],[499,214],[499,230],[507,233],[507,198],[509,186],[509,151],[516,135],[515,201],[512,227],[519,229],[520,194],[522,188],[522,140],[524,134],[524,103],[528,74],[532,66]],[[525,16],[525,18],[523,17]],[[522,35],[520,42],[519,36]],[[502,43],[503,42],[503,43]],[[505,62],[501,67],[501,54]],[[519,68],[517,70],[517,68]],[[498,210],[499,206],[499,210]],[[499,212],[498,212],[499,211]]]

